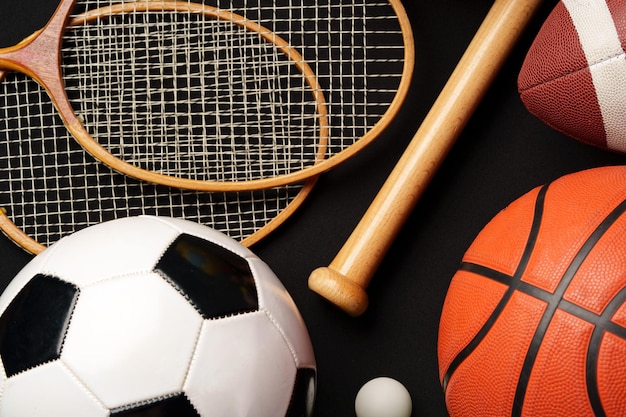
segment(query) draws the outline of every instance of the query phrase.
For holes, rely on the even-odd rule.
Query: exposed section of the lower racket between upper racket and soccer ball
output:
[[[92,224],[141,214],[193,220],[250,246],[289,218],[316,181],[210,193],[136,180],[87,154],[43,88],[15,72],[0,72],[0,131],[7,135],[0,142],[0,229],[31,253]]]

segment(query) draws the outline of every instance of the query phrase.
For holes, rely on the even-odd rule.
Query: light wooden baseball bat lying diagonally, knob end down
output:
[[[351,316],[365,312],[372,276],[540,4],[495,1],[367,212],[309,288]]]

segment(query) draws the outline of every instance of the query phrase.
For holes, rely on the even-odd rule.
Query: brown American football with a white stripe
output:
[[[626,152],[626,4],[563,0],[519,73],[528,110],[581,142]]]

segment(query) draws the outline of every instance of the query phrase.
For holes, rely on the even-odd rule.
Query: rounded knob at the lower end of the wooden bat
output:
[[[329,267],[311,273],[309,288],[352,317],[363,314],[369,303],[365,288]]]

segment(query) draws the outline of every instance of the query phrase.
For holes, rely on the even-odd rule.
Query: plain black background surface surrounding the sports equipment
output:
[[[309,273],[343,245],[413,136],[492,2],[404,0],[413,26],[411,92],[390,129],[324,174],[304,206],[252,249],[283,280],[307,322],[318,361],[317,417],[353,416],[371,378],[390,376],[413,398],[413,416],[447,416],[438,379],[444,297],[465,249],[501,209],[532,188],[583,169],[626,163],[546,127],[521,103],[516,79],[545,1],[444,161],[369,286],[370,307],[350,318],[307,288]],[[52,0],[2,0],[0,44],[41,27]],[[2,286],[31,259],[0,235]]]

